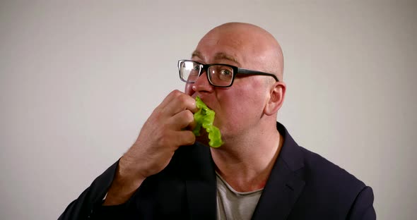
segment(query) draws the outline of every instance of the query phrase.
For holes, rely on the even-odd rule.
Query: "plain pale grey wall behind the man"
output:
[[[281,42],[298,144],[372,186],[378,219],[413,219],[416,1],[289,0],[0,1],[0,219],[57,219],[230,21]]]

